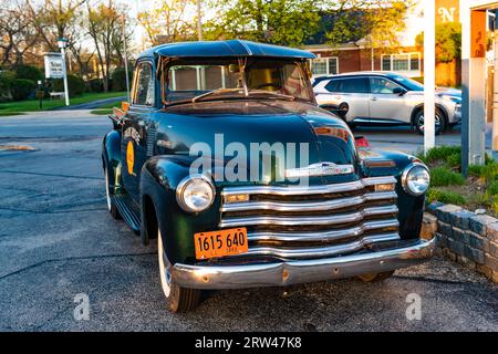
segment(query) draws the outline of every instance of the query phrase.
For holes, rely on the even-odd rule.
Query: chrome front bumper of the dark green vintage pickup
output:
[[[173,282],[193,289],[284,287],[414,266],[430,258],[435,247],[435,239],[421,239],[401,248],[314,260],[214,267],[176,263]]]

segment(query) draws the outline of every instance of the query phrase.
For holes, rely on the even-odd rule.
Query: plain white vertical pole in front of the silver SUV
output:
[[[424,152],[436,145],[436,4],[424,0]]]

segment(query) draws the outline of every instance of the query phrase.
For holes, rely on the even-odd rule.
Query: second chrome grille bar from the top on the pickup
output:
[[[276,210],[276,211],[322,211],[359,206],[365,201],[396,199],[395,191],[369,192],[363,196],[329,199],[319,201],[243,201],[225,204],[221,207],[222,212],[247,211],[247,210]]]

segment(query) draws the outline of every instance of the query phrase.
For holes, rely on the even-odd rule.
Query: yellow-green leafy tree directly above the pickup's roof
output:
[[[206,24],[210,39],[247,39],[299,46],[320,22],[317,0],[221,0]]]

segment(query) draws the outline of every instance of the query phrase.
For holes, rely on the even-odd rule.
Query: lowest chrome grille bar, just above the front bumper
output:
[[[277,258],[284,258],[284,259],[322,258],[359,251],[365,246],[375,242],[397,241],[397,240],[400,240],[400,236],[397,233],[386,233],[386,235],[369,236],[357,241],[328,247],[300,247],[300,248],[250,247],[248,252],[240,256],[273,256]],[[230,258],[237,258],[240,256],[234,256]]]

